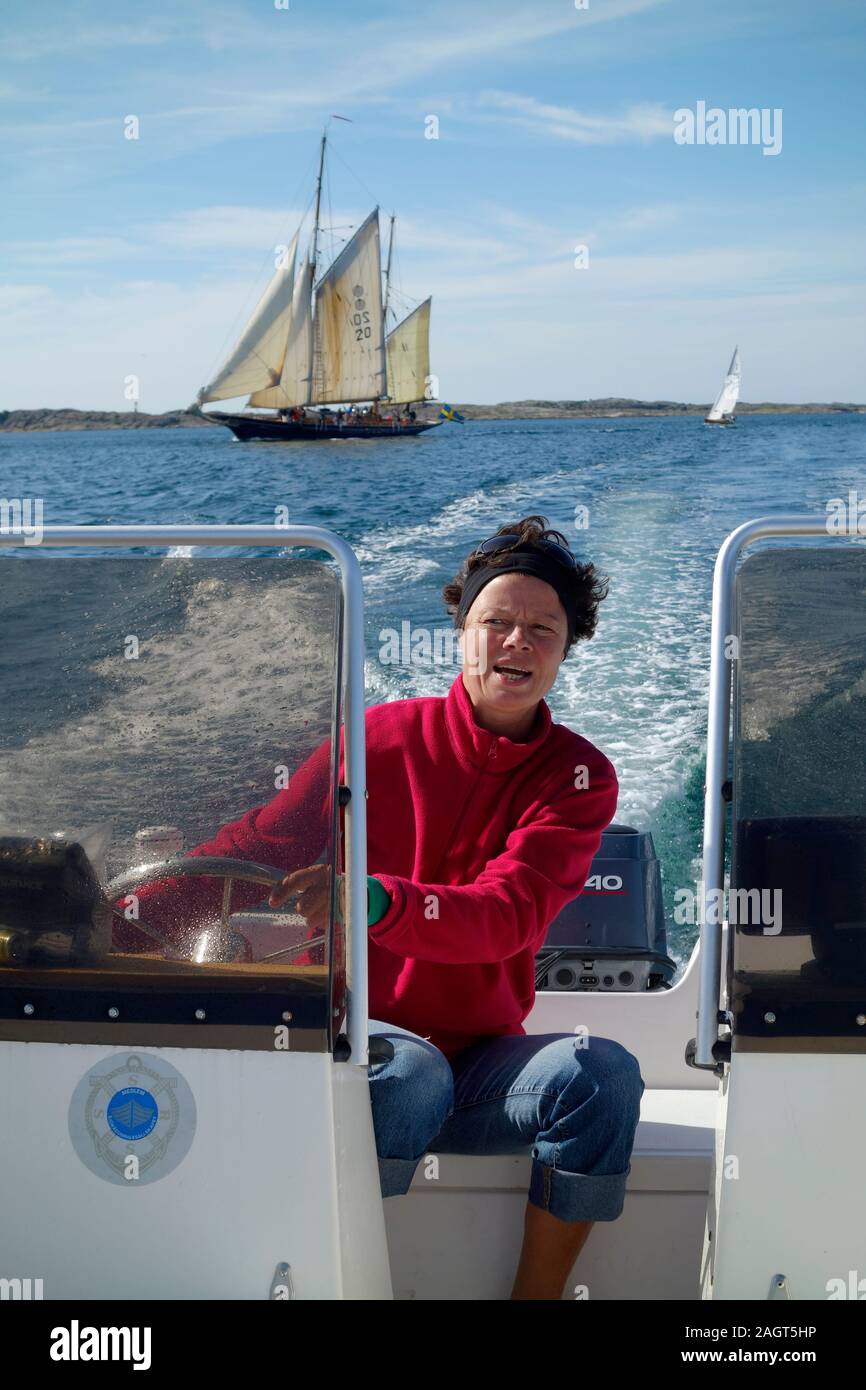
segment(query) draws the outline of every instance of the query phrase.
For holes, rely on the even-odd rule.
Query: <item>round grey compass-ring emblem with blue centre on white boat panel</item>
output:
[[[108,1183],[139,1187],[171,1173],[196,1133],[196,1102],[181,1073],[146,1052],[92,1066],[70,1101],[72,1148]]]

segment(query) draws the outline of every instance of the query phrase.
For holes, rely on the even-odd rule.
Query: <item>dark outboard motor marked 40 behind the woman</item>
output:
[[[538,990],[669,988],[662,872],[649,831],[609,826],[580,898],[550,923],[538,952]]]

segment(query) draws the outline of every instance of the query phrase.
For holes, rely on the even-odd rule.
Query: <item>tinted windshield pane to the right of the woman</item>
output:
[[[866,549],[787,545],[737,578],[737,1030],[863,1038]]]

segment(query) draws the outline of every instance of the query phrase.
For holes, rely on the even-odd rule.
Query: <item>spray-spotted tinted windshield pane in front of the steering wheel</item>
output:
[[[332,1030],[332,566],[209,549],[0,563],[6,1016],[24,988],[32,1013],[82,1019],[86,986],[118,1022]]]

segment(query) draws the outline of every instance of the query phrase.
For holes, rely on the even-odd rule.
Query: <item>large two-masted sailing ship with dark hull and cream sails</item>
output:
[[[207,413],[238,439],[368,439],[417,435],[439,424],[411,409],[432,399],[431,300],[386,329],[395,218],[384,286],[378,207],[318,274],[325,147],[327,131],[307,256],[297,254],[299,228],[235,348],[196,398],[200,409],[249,393],[250,410]],[[271,413],[256,413],[261,410]]]

